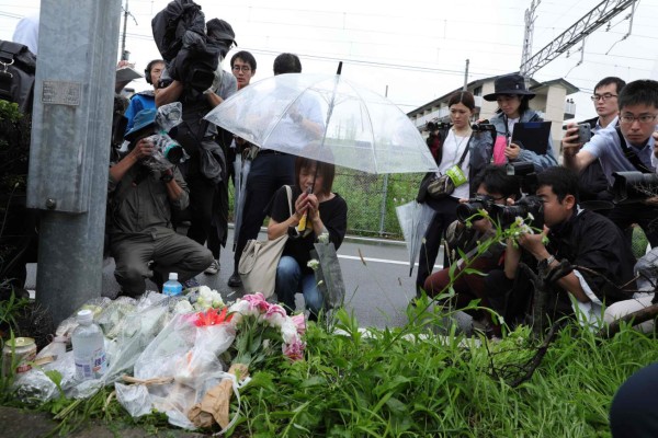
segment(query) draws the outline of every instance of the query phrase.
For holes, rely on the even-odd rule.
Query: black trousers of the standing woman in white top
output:
[[[416,293],[424,288],[426,279],[432,274],[441,240],[447,226],[457,219],[456,209],[460,201],[453,197],[446,197],[438,201],[430,201],[430,207],[435,211],[428,230],[424,233],[424,239],[420,245],[420,254],[418,256],[418,274],[416,275]],[[446,257],[443,257],[444,263],[447,263]]]

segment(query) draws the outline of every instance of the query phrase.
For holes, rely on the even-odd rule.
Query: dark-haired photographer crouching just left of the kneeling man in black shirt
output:
[[[519,180],[508,175],[504,166],[494,164],[485,168],[475,177],[474,186],[477,187],[476,198],[460,199],[463,206],[468,206],[467,203],[472,203],[473,208],[483,208],[488,211],[490,208],[487,207],[492,205],[504,206],[508,198],[517,199],[520,195]],[[468,208],[465,210],[469,211]],[[470,216],[470,212],[466,215]],[[457,217],[463,220],[467,219],[460,217],[460,207],[457,207]],[[453,283],[452,287],[455,296],[451,300],[456,309],[464,308],[476,299],[481,300],[480,304],[483,307],[489,307],[485,289],[485,275],[494,269],[502,269],[502,254],[504,252],[502,244],[494,244],[487,252],[477,254],[480,242],[496,235],[496,229],[490,219],[479,217],[468,220],[472,221],[473,227],[466,227],[463,221],[456,220],[451,223],[446,231],[446,244],[451,249],[451,253],[455,249],[460,249],[469,260],[467,266],[464,266],[464,260],[457,261],[457,268],[453,275],[460,275],[461,269],[465,267],[479,272],[479,274],[461,274],[460,278]],[[475,256],[477,258],[472,260]],[[435,297],[446,290],[450,281],[450,268],[446,267],[430,275],[424,283],[424,289],[429,296]],[[474,320],[483,321],[485,326],[490,327],[495,336],[500,336],[500,326],[494,324],[489,312],[469,311],[468,313]]]

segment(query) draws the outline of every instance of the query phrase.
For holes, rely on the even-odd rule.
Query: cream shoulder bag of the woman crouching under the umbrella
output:
[[[290,185],[286,185],[285,189],[292,216],[293,192]],[[276,266],[279,266],[279,260],[287,240],[286,232],[274,240],[251,239],[247,242],[238,263],[238,273],[248,293],[261,292],[265,299],[272,297],[276,280]]]

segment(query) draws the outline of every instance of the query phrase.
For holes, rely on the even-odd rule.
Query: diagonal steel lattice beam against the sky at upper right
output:
[[[537,51],[536,55],[533,57],[529,56],[529,59],[521,59],[521,74],[525,78],[532,78],[532,76],[542,67],[561,54],[567,53],[571,47],[585,39],[585,37],[622,13],[626,8],[634,5],[635,2],[637,2],[637,0],[603,0],[594,9],[574,23],[571,27],[567,28],[561,35]],[[527,55],[530,55],[530,53]],[[526,56],[525,45],[523,48],[523,56]]]

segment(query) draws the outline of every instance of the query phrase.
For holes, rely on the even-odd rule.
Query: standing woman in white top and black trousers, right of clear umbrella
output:
[[[488,149],[490,153],[492,138],[490,135],[474,135],[470,129],[470,120],[475,111],[475,99],[467,91],[453,94],[447,101],[452,127],[441,132],[443,142],[434,155],[440,174],[454,175],[462,180],[461,185],[455,184],[454,192],[449,196],[432,197],[428,193],[428,185],[436,174],[429,173],[420,184],[417,196],[419,203],[428,204],[434,211],[432,222],[426,231],[420,246],[418,261],[418,274],[416,276],[416,291],[420,295],[424,280],[432,273],[432,267],[439,255],[441,239],[447,226],[456,220],[456,208],[460,198],[468,198],[470,188],[468,181],[473,176],[475,168],[484,168],[488,162],[474,163],[474,157],[487,155],[480,153],[480,149]],[[479,161],[479,160],[478,160]],[[455,178],[453,178],[455,181]]]

